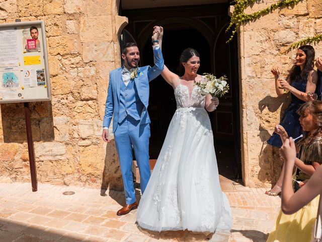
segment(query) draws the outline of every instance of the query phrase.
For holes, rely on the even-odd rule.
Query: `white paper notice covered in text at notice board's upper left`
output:
[[[17,33],[17,30],[0,31],[0,65],[19,63]]]

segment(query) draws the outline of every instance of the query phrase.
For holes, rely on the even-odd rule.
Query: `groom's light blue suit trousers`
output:
[[[127,115],[122,123],[118,124],[114,138],[119,154],[126,204],[132,204],[136,201],[131,169],[132,146],[139,167],[140,187],[143,194],[151,173],[149,164],[150,126],[149,124],[140,125],[140,120],[135,120]]]

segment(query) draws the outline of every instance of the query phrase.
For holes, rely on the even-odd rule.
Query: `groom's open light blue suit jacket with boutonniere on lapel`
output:
[[[164,60],[161,49],[153,49],[154,66],[139,67],[138,77],[134,78],[134,83],[144,107],[141,113],[140,124],[150,123],[150,118],[147,113],[149,102],[149,82],[160,75],[164,69]],[[110,72],[110,80],[107,91],[105,104],[105,114],[103,119],[103,127],[110,127],[112,116],[114,115],[113,132],[117,128],[117,120],[119,114],[120,103],[120,85],[122,80],[122,68],[115,69]]]

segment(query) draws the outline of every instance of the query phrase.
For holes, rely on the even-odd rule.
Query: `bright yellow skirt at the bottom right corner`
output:
[[[310,242],[319,196],[297,212],[286,215],[280,209],[267,242]]]

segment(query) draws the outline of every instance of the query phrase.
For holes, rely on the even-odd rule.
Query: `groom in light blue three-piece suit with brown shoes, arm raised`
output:
[[[137,208],[132,177],[132,146],[140,172],[140,186],[144,192],[150,178],[149,137],[150,118],[147,113],[149,82],[161,74],[164,60],[158,45],[160,28],[154,27],[152,47],[154,66],[138,67],[140,52],[135,43],[126,43],[122,49],[124,66],[110,72],[103,140],[109,142],[109,126],[113,116],[113,133],[119,155],[126,205],[117,211],[125,215]]]

